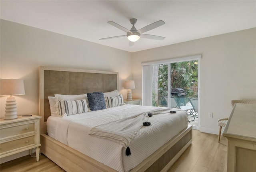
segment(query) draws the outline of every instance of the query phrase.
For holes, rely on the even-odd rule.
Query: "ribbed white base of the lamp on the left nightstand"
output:
[[[18,118],[15,98],[12,96],[8,97],[5,105],[6,106],[5,106],[4,119],[12,120],[12,119]]]

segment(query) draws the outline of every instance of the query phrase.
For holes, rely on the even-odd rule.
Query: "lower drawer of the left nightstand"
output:
[[[8,152],[10,150],[15,150],[17,148],[22,148],[24,146],[31,146],[35,145],[35,137],[36,135],[33,136],[28,136],[25,138],[18,138],[16,140],[12,140],[10,142],[4,142],[0,144],[0,154],[4,152]]]

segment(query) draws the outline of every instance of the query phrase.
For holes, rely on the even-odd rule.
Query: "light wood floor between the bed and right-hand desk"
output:
[[[228,139],[193,130],[193,141],[168,172],[227,172]]]

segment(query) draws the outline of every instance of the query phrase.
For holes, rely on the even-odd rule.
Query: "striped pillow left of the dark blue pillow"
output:
[[[60,100],[60,117],[88,112],[86,100]]]

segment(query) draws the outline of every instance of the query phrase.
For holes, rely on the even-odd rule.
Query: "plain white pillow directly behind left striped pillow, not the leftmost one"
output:
[[[58,112],[57,112],[58,115],[60,115],[58,102],[61,101],[61,100],[82,100],[82,99],[85,99],[86,103],[87,103],[87,107],[89,105],[87,94],[78,94],[78,95],[54,94],[54,95],[55,95],[55,107],[58,109]]]

